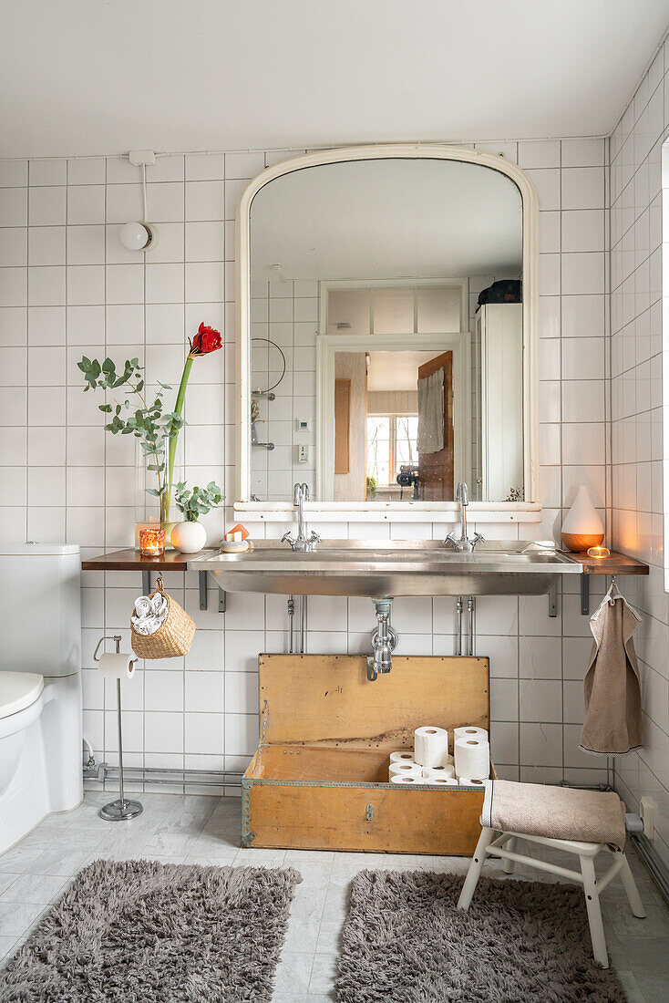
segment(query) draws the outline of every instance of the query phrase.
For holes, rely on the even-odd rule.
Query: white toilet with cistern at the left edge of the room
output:
[[[0,854],[83,796],[79,561],[0,544]]]

